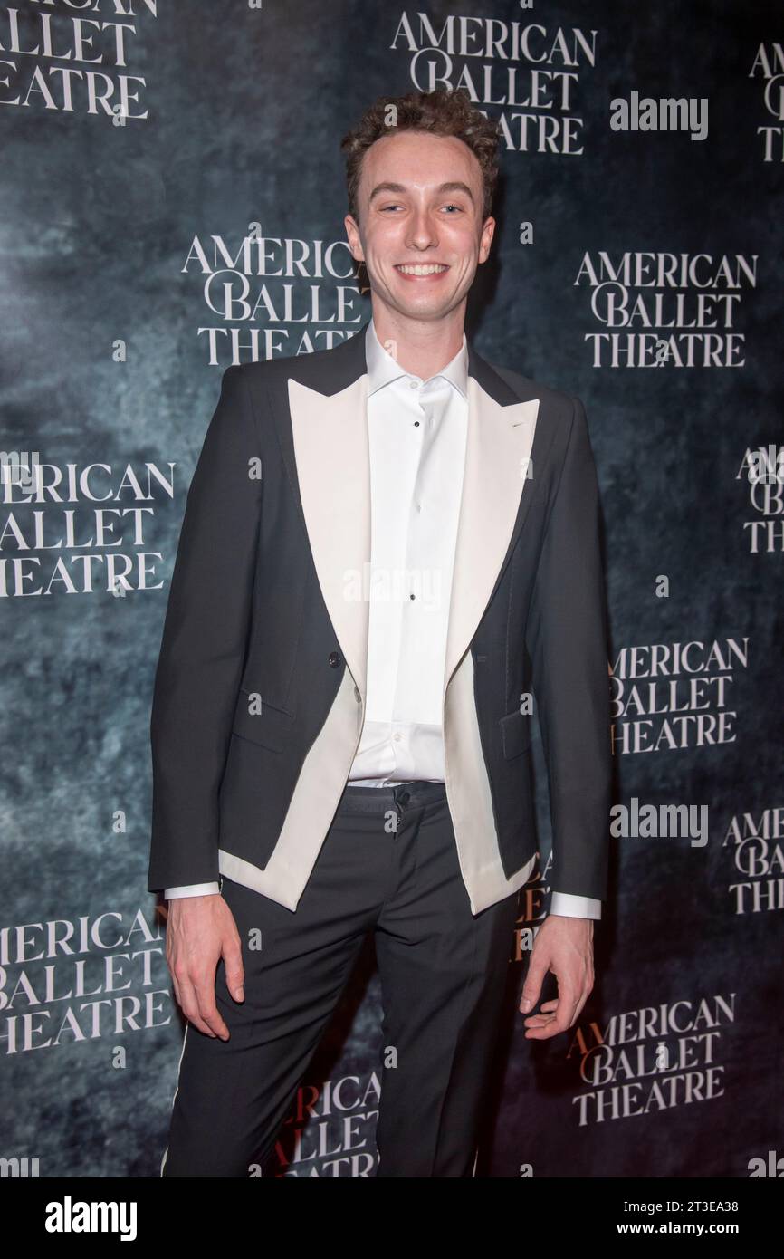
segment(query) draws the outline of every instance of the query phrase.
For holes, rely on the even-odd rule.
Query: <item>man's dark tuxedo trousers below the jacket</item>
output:
[[[230,1037],[186,1026],[161,1176],[264,1163],[369,930],[384,1010],[376,1175],[473,1176],[517,894],[471,913],[443,783],[347,786],[294,913],[225,878],[223,896],[245,1000],[221,959]]]

